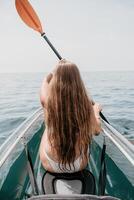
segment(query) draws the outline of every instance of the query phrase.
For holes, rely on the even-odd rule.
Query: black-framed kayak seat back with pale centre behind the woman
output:
[[[84,169],[75,173],[51,173],[42,177],[43,194],[95,194],[95,178]]]

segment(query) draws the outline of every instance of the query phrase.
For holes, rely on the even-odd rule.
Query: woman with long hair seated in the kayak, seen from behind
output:
[[[43,167],[58,173],[84,169],[92,136],[101,131],[101,108],[87,95],[77,66],[61,60],[44,79],[40,99],[46,124],[40,144]]]

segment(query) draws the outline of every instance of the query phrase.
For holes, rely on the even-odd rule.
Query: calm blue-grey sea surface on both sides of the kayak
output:
[[[40,107],[43,77],[43,73],[0,74],[0,145]],[[134,140],[134,72],[87,72],[82,77],[107,119]]]

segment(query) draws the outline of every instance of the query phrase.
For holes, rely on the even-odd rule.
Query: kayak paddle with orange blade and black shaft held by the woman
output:
[[[42,29],[41,22],[39,20],[39,17],[37,16],[36,12],[32,8],[31,4],[28,2],[28,0],[15,0],[16,9],[18,11],[19,16],[21,19],[32,29],[39,32],[41,36],[46,40],[48,45],[51,47],[51,49],[54,51],[56,56],[59,58],[59,60],[62,59],[58,51],[55,49],[55,47],[52,45],[50,40],[47,38],[46,33]],[[108,120],[104,117],[102,113],[100,113],[100,116],[103,120],[105,120],[107,123]]]

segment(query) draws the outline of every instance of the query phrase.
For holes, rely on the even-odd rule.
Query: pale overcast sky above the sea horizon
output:
[[[134,70],[134,0],[30,0],[62,57],[81,71]],[[57,58],[0,0],[0,72],[45,72]]]

